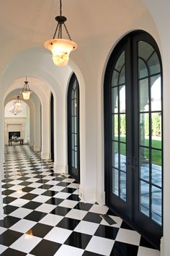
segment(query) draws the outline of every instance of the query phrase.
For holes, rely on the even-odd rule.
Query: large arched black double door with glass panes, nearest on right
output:
[[[144,31],[128,34],[104,77],[106,202],[156,247],[162,236],[161,56]]]

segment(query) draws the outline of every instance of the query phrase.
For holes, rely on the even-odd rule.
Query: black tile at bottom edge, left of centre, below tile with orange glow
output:
[[[30,254],[36,256],[53,256],[60,247],[61,244],[42,239],[42,241],[32,249]]]

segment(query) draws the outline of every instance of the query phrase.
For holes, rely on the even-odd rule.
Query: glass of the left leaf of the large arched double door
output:
[[[125,51],[112,73],[112,192],[126,201]]]

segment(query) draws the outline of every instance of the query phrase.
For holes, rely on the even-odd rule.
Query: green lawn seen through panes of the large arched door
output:
[[[161,149],[161,140],[152,140],[152,147]],[[115,140],[118,140],[118,137],[115,137]],[[125,142],[125,136],[120,137],[121,142]],[[149,140],[146,139],[145,142],[143,143],[143,146],[148,146],[149,145]],[[115,150],[118,150],[118,144],[116,143],[115,145]],[[121,149],[120,149],[120,154],[126,155],[126,147],[125,144],[121,144]],[[148,148],[145,149],[145,156],[147,159],[149,159],[149,150]],[[152,150],[152,162],[158,166],[161,166],[161,150]]]

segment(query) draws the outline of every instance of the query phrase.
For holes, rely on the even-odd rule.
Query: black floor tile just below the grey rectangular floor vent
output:
[[[118,231],[119,231],[119,229],[114,228],[112,226],[99,225],[99,227],[98,227],[97,231],[95,232],[94,236],[102,236],[102,237],[106,237],[108,239],[115,240]]]

